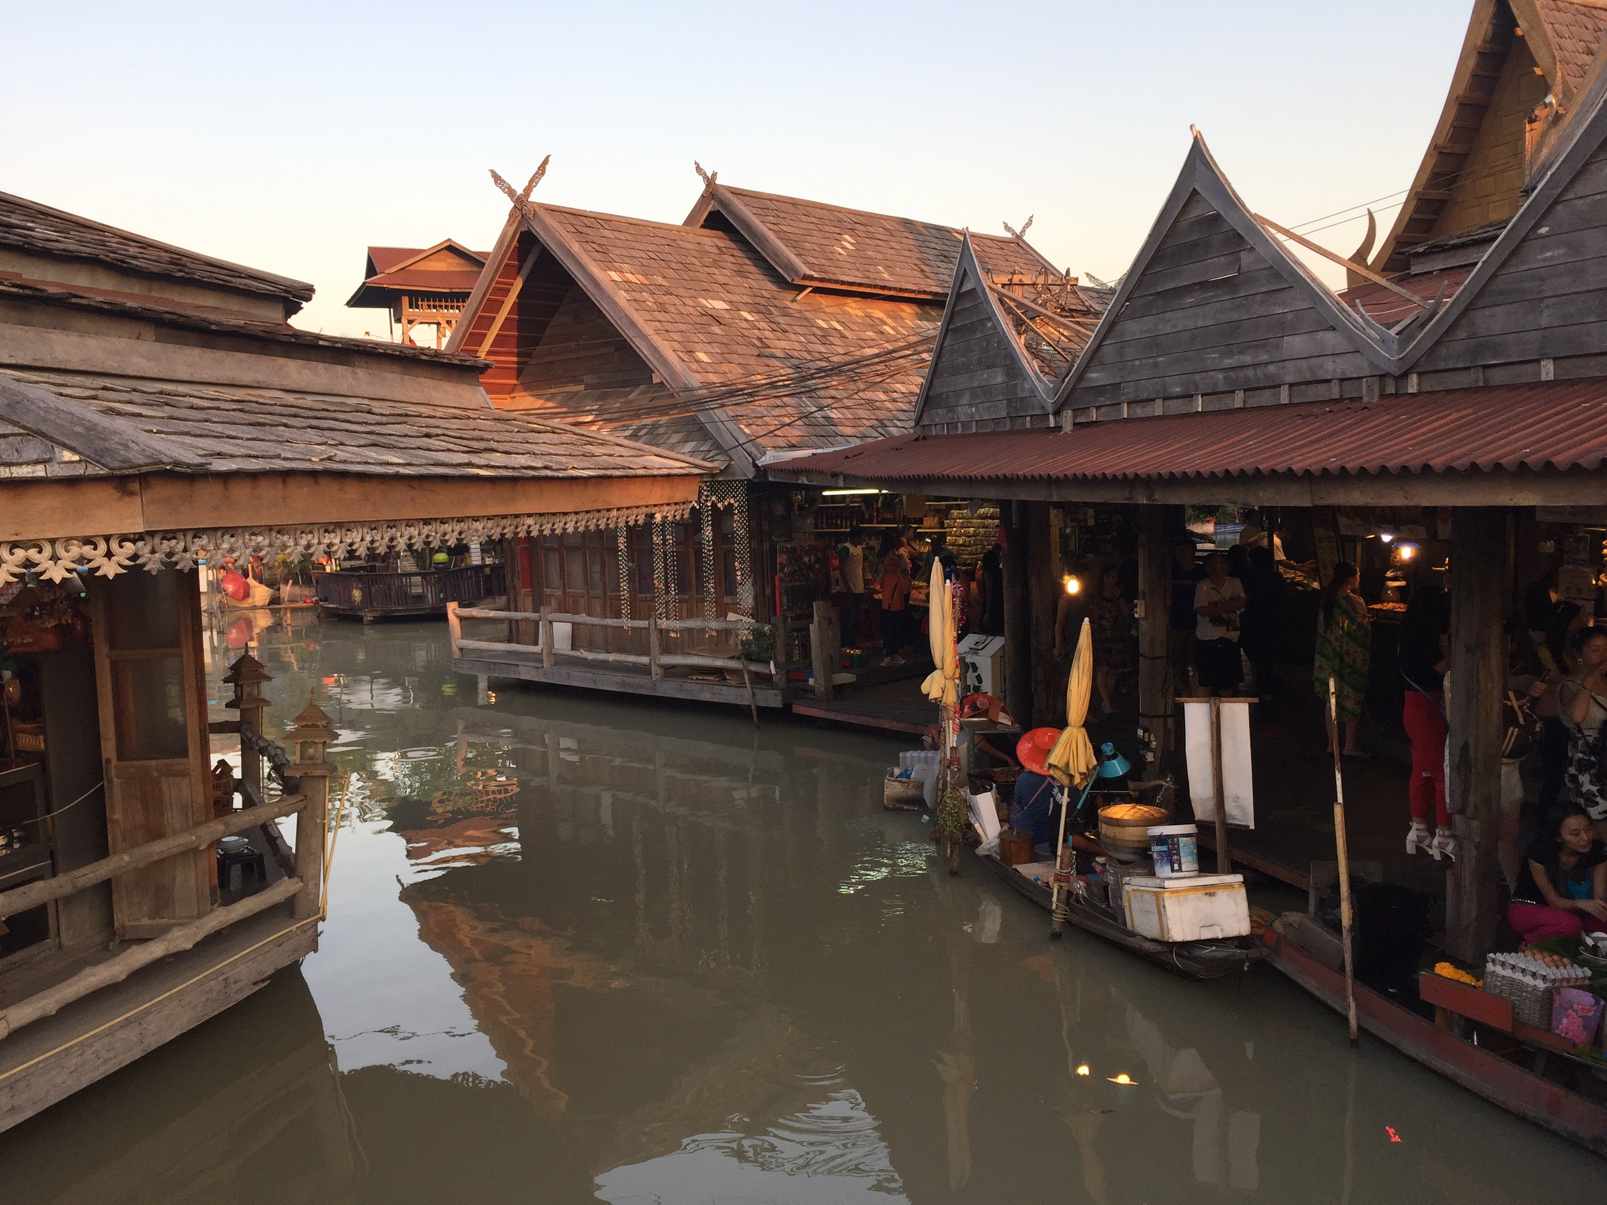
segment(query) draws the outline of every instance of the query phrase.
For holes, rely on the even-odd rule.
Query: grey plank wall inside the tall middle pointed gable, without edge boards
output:
[[[1128,296],[1069,398],[1075,410],[1112,406],[1099,418],[1261,405],[1332,395],[1335,378],[1376,370],[1202,196],[1194,194]],[[1281,387],[1315,382],[1282,397]],[[1236,392],[1244,390],[1245,398]],[[1315,392],[1313,392],[1315,390]],[[1253,395],[1252,395],[1253,394]],[[1313,394],[1308,397],[1306,394]],[[1181,405],[1157,405],[1178,398]]]

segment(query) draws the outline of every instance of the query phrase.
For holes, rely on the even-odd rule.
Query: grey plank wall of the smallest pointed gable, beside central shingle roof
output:
[[[930,370],[930,386],[921,427],[966,423],[967,431],[1004,431],[1035,418],[1049,418],[1032,378],[1000,329],[993,307],[982,289],[967,281],[955,302],[943,345]]]

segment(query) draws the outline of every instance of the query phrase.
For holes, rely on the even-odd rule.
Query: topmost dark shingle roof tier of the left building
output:
[[[0,244],[24,247],[43,255],[112,263],[146,276],[206,284],[278,297],[294,313],[312,300],[305,281],[275,276],[228,260],[130,235],[87,217],[66,214],[37,201],[0,193]]]

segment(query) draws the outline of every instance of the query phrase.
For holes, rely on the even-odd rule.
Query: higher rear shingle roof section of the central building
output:
[[[722,183],[704,190],[683,225],[718,225],[722,217],[792,284],[930,300],[948,296],[963,238],[955,227]],[[971,239],[990,272],[1059,275],[1025,239]]]

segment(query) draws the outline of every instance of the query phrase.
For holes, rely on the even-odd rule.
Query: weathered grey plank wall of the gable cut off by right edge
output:
[[[1559,378],[1607,374],[1607,146],[1586,161],[1416,370],[1454,379],[1464,374],[1448,370],[1543,358],[1572,360],[1554,365]],[[1478,381],[1466,374],[1462,384]]]

